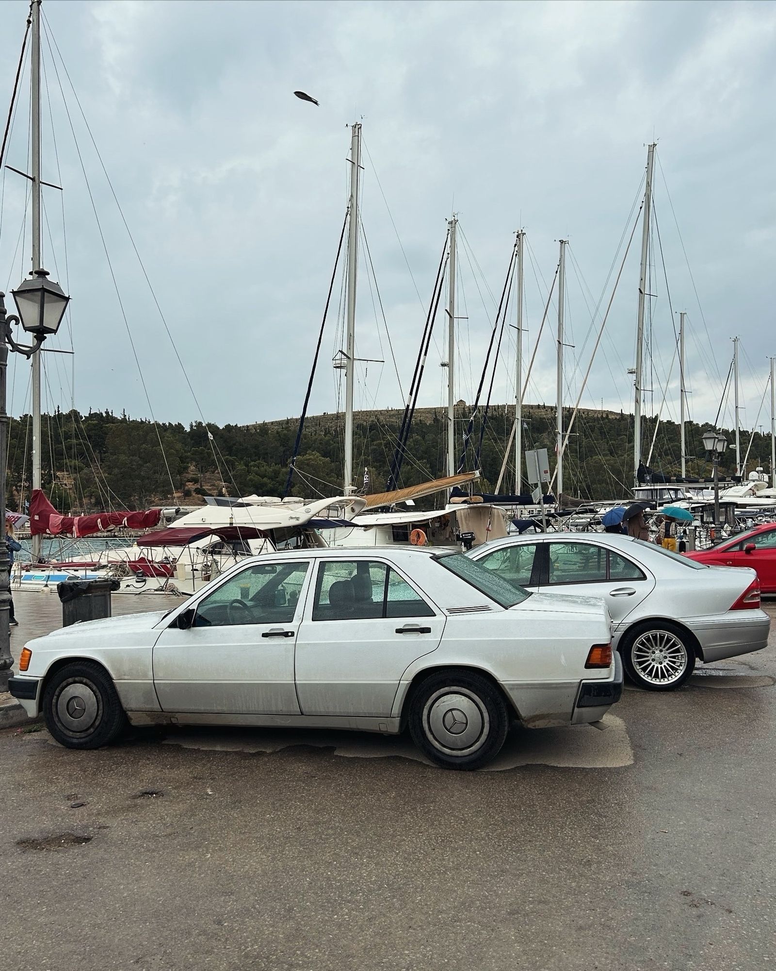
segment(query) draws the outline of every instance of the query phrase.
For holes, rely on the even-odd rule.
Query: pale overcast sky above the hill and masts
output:
[[[0,5],[3,120],[26,11],[22,0]],[[776,4],[48,0],[44,13],[199,401],[45,37],[43,178],[64,194],[45,189],[44,262],[73,297],[81,411],[152,409],[157,419],[187,422],[201,409],[219,423],[299,414],[346,205],[347,125],[362,120],[363,225],[404,388],[455,209],[464,237],[459,314],[468,318],[459,322],[457,396],[472,399],[495,315],[491,293],[498,298],[523,226],[532,253],[528,352],[557,241],[569,240],[573,403],[592,348],[591,313],[601,293],[604,307],[609,299],[606,278],[626,227],[630,235],[655,139],[663,255],[656,239],[646,384],[657,410],[675,347],[670,294],[672,310],[689,318],[693,418],[714,418],[737,333],[742,422],[756,423],[768,355],[776,354]],[[27,64],[7,157],[19,169],[28,164],[28,83]],[[320,108],[296,99],[298,88]],[[28,221],[19,238],[25,189],[4,173],[3,286],[29,269]],[[639,246],[640,228],[583,397],[588,406],[632,409]],[[402,395],[363,251],[359,266],[358,355],[386,364],[361,365],[356,403],[397,407]],[[340,281],[313,413],[338,408]],[[531,402],[555,399],[555,314],[539,345]],[[446,397],[441,315],[436,327],[426,405]],[[499,401],[514,394],[512,334]],[[52,405],[70,405],[67,362],[47,357]],[[14,361],[16,414],[25,410],[27,370]],[[673,418],[677,386],[674,364],[664,411]],[[766,401],[759,423],[768,421]]]

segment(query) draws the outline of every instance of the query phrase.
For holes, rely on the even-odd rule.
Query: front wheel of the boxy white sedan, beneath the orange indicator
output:
[[[51,676],[43,714],[51,735],[68,749],[110,745],[127,724],[113,681],[92,661],[74,661]]]

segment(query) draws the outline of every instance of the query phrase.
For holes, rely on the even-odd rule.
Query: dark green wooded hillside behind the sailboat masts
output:
[[[457,415],[461,442],[469,420],[462,407]],[[371,491],[385,487],[402,412],[360,412],[355,417],[355,459],[357,483],[364,468],[370,470]],[[512,426],[514,409],[491,408],[485,430],[480,466],[485,484],[493,487],[501,468],[503,449]],[[570,409],[566,421],[570,417]],[[403,485],[414,485],[445,473],[446,424],[441,409],[416,413],[404,460]],[[555,411],[529,406],[524,412],[524,448],[547,448],[555,444]],[[251,425],[188,426],[115,416],[110,412],[57,412],[43,418],[44,487],[61,512],[83,512],[102,508],[141,508],[150,505],[203,501],[205,494],[231,495],[255,492],[279,495],[285,484],[298,419],[281,419]],[[30,419],[14,419],[10,428],[8,504],[18,509],[30,491]],[[688,451],[702,455],[703,427],[688,424]],[[644,454],[649,451],[654,419],[643,422]],[[583,411],[577,416],[566,451],[566,492],[583,499],[621,498],[628,494],[631,480],[632,416],[617,412]],[[732,436],[728,434],[732,441]],[[479,440],[476,424],[472,442]],[[160,447],[163,446],[163,449]],[[743,448],[749,445],[742,435]],[[307,420],[298,460],[299,477],[293,492],[324,495],[339,492],[341,483],[342,417],[319,415]],[[758,464],[769,466],[770,438],[756,433],[748,470]],[[468,467],[471,466],[470,457]],[[652,466],[666,475],[677,475],[680,467],[679,428],[662,422],[655,444]],[[733,471],[734,456],[728,451],[721,466]],[[690,475],[710,475],[705,461],[691,459]],[[171,482],[172,481],[172,482]],[[514,485],[514,463],[510,457],[505,484]],[[525,485],[524,485],[525,489]]]

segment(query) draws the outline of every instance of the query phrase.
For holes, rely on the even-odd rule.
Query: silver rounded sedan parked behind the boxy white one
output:
[[[704,566],[616,533],[507,537],[467,555],[516,588],[602,597],[626,673],[653,691],[683,685],[696,660],[768,642],[754,570]]]

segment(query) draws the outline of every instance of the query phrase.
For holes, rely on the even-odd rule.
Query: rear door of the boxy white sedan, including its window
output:
[[[303,715],[388,717],[407,666],[435,651],[444,616],[394,566],[320,560],[297,638]]]

